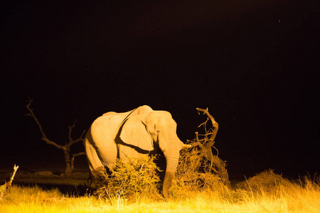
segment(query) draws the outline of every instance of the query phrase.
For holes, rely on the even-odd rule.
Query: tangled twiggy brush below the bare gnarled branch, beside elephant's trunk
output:
[[[220,168],[213,162],[214,158],[220,158],[211,151],[213,143],[208,137],[210,131],[202,136],[199,139],[196,135],[193,141],[189,141],[191,144],[200,144],[200,147],[193,146],[181,151],[176,177],[171,186],[172,197],[188,197],[188,194],[192,194],[189,192],[214,191],[220,195],[228,192],[228,187],[218,172]]]

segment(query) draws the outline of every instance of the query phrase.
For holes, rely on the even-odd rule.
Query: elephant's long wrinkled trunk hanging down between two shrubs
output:
[[[179,159],[179,150],[172,151],[169,149],[164,153],[166,157],[166,175],[164,175],[164,184],[162,186],[162,195],[164,195],[164,199],[169,198],[169,187],[171,185],[171,181],[174,178],[176,173],[176,168],[178,166]]]

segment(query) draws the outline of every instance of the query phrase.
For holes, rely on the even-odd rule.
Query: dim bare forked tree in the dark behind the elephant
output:
[[[55,148],[58,148],[63,151],[64,157],[65,157],[65,164],[66,164],[64,175],[66,175],[66,176],[70,175],[74,170],[75,157],[80,156],[80,155],[85,155],[85,152],[80,152],[80,153],[74,153],[73,155],[70,156],[70,147],[73,146],[73,144],[78,143],[80,141],[83,142],[83,140],[84,140],[83,136],[85,134],[85,130],[81,133],[81,135],[78,139],[74,140],[73,137],[71,136],[71,133],[73,131],[73,128],[75,127],[75,123],[77,122],[77,120],[75,120],[75,122],[73,123],[73,126],[68,126],[69,142],[66,143],[64,146],[58,145],[58,143],[55,143],[54,141],[51,141],[47,138],[46,133],[44,133],[40,122],[38,121],[36,115],[33,113],[33,109],[30,108],[32,102],[33,102],[33,99],[28,99],[28,104],[26,104],[26,108],[28,109],[29,113],[26,114],[26,116],[31,116],[34,119],[34,121],[36,121],[36,124],[38,124],[40,133],[42,135],[41,139],[43,141],[46,141],[46,143],[48,143],[52,146],[55,146]]]

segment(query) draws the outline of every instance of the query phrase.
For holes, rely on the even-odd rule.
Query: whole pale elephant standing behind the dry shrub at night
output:
[[[159,147],[166,158],[162,195],[169,198],[169,186],[176,173],[182,148],[190,148],[176,134],[176,121],[169,111],[156,111],[144,105],[131,111],[102,114],[87,131],[85,152],[92,177],[99,185],[106,168],[114,168],[117,159],[142,158]]]

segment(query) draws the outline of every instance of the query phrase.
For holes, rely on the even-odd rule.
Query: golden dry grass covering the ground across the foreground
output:
[[[30,175],[23,178],[20,175],[20,179],[17,175],[16,182],[39,183],[13,185],[0,200],[0,212],[320,212],[319,178],[290,181],[272,170],[240,182],[234,190],[220,186],[202,192],[178,192],[173,186],[172,198],[167,201],[151,200],[142,195],[133,200],[117,195],[109,199],[94,197],[90,193],[80,195],[71,185],[85,187],[84,182],[81,183],[85,176],[78,173],[66,180],[58,175],[50,178]],[[43,188],[41,181],[50,185],[55,182],[57,187]],[[70,185],[73,190],[61,192],[58,189],[61,184]]]

